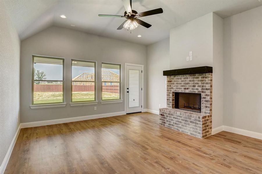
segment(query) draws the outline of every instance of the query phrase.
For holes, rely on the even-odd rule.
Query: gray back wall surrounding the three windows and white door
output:
[[[128,32],[126,34],[129,34]],[[31,109],[32,55],[65,58],[65,102],[61,108]],[[124,111],[124,102],[88,106],[70,106],[71,59],[97,61],[97,98],[101,100],[101,62],[122,64],[122,99],[124,99],[124,63],[144,65],[144,108],[146,108],[146,46],[100,37],[75,30],[50,27],[21,42],[21,122],[79,117]],[[94,106],[97,110],[94,110]]]

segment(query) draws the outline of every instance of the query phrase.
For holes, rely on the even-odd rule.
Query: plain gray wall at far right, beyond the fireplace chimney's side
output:
[[[224,19],[224,125],[262,133],[262,6]]]

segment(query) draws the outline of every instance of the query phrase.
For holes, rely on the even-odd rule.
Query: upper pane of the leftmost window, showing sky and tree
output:
[[[34,57],[35,80],[63,80],[63,60]]]

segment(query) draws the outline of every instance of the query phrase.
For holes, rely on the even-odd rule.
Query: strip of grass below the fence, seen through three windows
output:
[[[74,92],[73,102],[94,101],[94,92]],[[103,100],[119,99],[117,93],[103,93]],[[34,104],[61,103],[63,102],[62,92],[34,92]]]

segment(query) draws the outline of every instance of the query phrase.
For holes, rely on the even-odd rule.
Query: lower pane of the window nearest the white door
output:
[[[119,97],[119,83],[110,82],[102,85],[102,100],[120,99]]]

